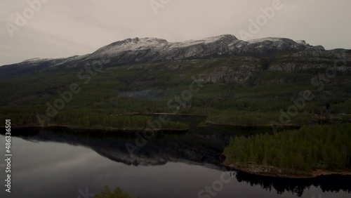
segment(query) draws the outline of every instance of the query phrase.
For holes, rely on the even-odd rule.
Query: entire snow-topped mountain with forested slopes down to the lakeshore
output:
[[[103,70],[88,71],[101,64]],[[190,89],[194,78],[199,89]],[[81,91],[69,92],[72,85]],[[216,124],[267,125],[295,110],[284,124],[302,125],[351,120],[350,90],[347,49],[232,35],[184,42],[134,38],[87,55],[0,67],[0,119],[37,126],[38,114],[53,115],[46,124],[115,128],[124,126],[116,115],[178,112],[203,114]],[[301,98],[306,95],[310,99]]]

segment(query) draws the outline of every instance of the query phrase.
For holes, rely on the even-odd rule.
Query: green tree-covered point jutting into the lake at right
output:
[[[316,169],[351,171],[351,124],[304,126],[274,135],[236,137],[224,154],[225,164],[244,169],[274,166],[299,173]]]

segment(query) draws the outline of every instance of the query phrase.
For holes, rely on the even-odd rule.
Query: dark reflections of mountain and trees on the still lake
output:
[[[16,136],[32,144],[42,142],[66,143],[79,145],[127,166],[164,166],[164,164],[183,163],[205,167],[206,169],[228,171],[220,162],[223,156],[220,154],[227,144],[230,136],[238,133],[253,133],[253,131],[236,131],[232,129],[197,128],[189,133],[181,135],[159,134],[148,141],[140,152],[133,153],[133,157],[126,149],[126,143],[134,143],[135,138],[123,137],[88,137],[77,136],[67,131],[18,131]],[[62,133],[65,132],[65,133]],[[213,133],[215,132],[215,133]],[[267,192],[275,194],[293,194],[294,197],[302,197],[310,187],[319,187],[322,192],[347,192],[351,193],[350,176],[321,176],[312,179],[284,179],[264,176],[253,176],[248,173],[236,172],[236,180],[239,183],[251,186],[260,186]],[[201,189],[201,188],[200,188]],[[334,196],[337,196],[334,194]],[[316,196],[317,197],[317,196]]]

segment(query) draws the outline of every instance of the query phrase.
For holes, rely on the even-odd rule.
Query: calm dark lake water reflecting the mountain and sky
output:
[[[213,130],[219,131],[215,135]],[[133,137],[89,138],[53,131],[13,137],[12,192],[4,191],[5,173],[0,167],[0,197],[87,198],[92,196],[81,192],[94,194],[104,185],[122,187],[141,198],[196,198],[201,190],[202,197],[351,197],[347,176],[292,180],[224,169],[220,153],[228,136],[236,135],[225,128],[161,134],[133,157],[125,147],[135,143]],[[5,158],[4,136],[0,143]],[[230,174],[234,176],[227,183]],[[220,182],[221,177],[226,183]],[[216,196],[205,192],[206,186],[213,186]]]

